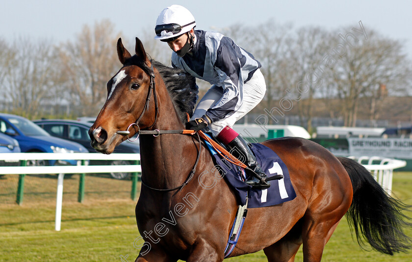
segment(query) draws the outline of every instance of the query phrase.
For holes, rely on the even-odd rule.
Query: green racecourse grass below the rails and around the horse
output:
[[[0,180],[3,185],[0,185],[2,191],[4,184],[9,183],[6,182],[7,178],[3,177]],[[89,187],[86,189],[85,202],[79,204],[76,202],[78,177],[74,175],[70,179],[65,179],[62,230],[55,232],[56,179],[52,176],[30,179],[31,182],[27,182],[26,185],[33,190],[25,195],[22,206],[0,204],[0,262],[105,262],[121,261],[120,256],[127,255],[127,261],[134,261],[139,250],[133,247],[133,241],[139,233],[134,218],[135,203],[129,200],[130,181],[87,176],[86,185]],[[46,190],[46,185],[50,187],[51,193]],[[13,188],[14,185],[9,187]],[[117,189],[113,189],[114,187]],[[103,197],[102,192],[106,190],[111,192],[110,198]],[[412,204],[412,173],[395,173],[393,190],[404,203]],[[50,197],[41,201],[48,194]],[[0,191],[0,200],[1,195],[4,198],[7,194]],[[409,213],[409,216],[412,216],[412,213]],[[406,233],[412,237],[412,229],[408,229]],[[300,250],[296,261],[302,260]],[[267,260],[263,251],[260,251],[225,261]],[[344,218],[326,245],[322,261],[411,262],[412,253],[395,254],[390,257],[375,251],[362,250],[352,238]]]

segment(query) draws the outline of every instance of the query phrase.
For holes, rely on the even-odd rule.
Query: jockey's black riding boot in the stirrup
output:
[[[265,181],[267,175],[260,168],[258,161],[256,160],[255,155],[252,153],[252,150],[247,145],[247,142],[243,140],[240,136],[237,136],[231,143],[228,144],[229,148],[236,148],[239,152],[246,157],[244,164],[248,166],[252,171],[246,170],[246,173],[249,175],[249,179],[245,181],[246,184],[258,188],[265,189],[270,187],[270,182]],[[250,174],[252,173],[252,174]]]

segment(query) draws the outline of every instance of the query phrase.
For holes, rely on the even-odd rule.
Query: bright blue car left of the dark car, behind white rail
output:
[[[38,125],[22,116],[0,113],[0,132],[18,141],[22,152],[87,153],[75,142],[52,137]],[[77,160],[36,160],[27,165],[77,165]]]

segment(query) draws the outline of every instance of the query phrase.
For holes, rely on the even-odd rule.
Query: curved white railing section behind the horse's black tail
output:
[[[353,156],[349,158],[356,159]],[[389,195],[392,193],[393,170],[406,166],[406,161],[404,160],[382,158],[379,156],[361,156],[357,161],[372,173],[375,180]],[[365,162],[367,164],[365,164]],[[379,162],[379,164],[374,164],[376,162]]]

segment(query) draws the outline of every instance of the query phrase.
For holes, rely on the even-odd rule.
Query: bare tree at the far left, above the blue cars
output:
[[[47,40],[34,43],[20,38],[9,50],[2,77],[5,98],[12,102],[14,112],[37,117],[57,82],[54,47]]]

